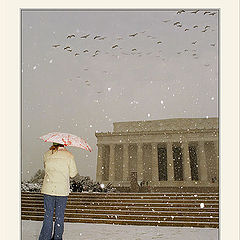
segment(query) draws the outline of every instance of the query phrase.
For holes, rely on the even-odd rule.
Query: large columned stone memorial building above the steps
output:
[[[218,118],[113,123],[96,133],[96,180],[129,188],[131,177],[153,189],[218,189]]]

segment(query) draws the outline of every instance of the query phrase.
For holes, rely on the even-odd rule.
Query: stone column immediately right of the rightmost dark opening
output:
[[[199,178],[202,182],[207,182],[208,180],[208,174],[207,174],[207,162],[206,162],[206,156],[205,156],[205,150],[204,150],[204,142],[199,141],[198,142],[198,154],[199,154],[199,160],[198,160],[198,169],[199,169]]]

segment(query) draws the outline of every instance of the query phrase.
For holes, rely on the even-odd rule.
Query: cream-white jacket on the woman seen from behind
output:
[[[41,193],[54,196],[68,196],[70,193],[69,177],[78,173],[74,156],[64,147],[58,151],[47,151],[43,155],[45,176]]]

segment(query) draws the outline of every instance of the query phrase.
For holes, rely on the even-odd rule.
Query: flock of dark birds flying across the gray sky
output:
[[[187,11],[187,10],[178,10],[176,12],[177,15],[181,15],[181,14],[185,14],[186,12],[190,13],[190,14],[203,14],[204,16],[215,16],[217,14],[217,12],[212,12],[212,11],[203,11],[203,10],[194,10],[194,11]],[[163,20],[162,21],[163,24],[169,24],[169,26],[172,26],[176,29],[182,29],[184,32],[188,32],[188,31],[191,31],[191,30],[195,30],[195,29],[200,29],[200,31],[204,34],[208,31],[215,31],[215,29],[212,29],[212,27],[210,25],[204,25],[204,26],[200,26],[200,25],[196,25],[196,24],[192,24],[192,27],[184,27],[184,23],[182,23],[180,20],[178,21],[173,21],[171,19],[166,19],[166,20]],[[127,38],[126,37],[117,37],[112,43],[112,45],[109,46],[109,50],[112,49],[113,50],[113,54],[114,54],[114,51],[116,51],[115,49],[120,49],[122,50],[122,46],[121,46],[121,40],[127,40],[127,39],[133,39],[133,38],[138,38],[139,36],[145,36],[146,38],[149,38],[149,39],[152,39],[154,44],[156,45],[166,45],[166,43],[161,40],[161,39],[157,39],[157,37],[155,36],[152,36],[152,35],[147,35],[147,31],[142,31],[142,32],[134,32],[134,33],[131,33],[131,34],[128,34]],[[69,34],[66,36],[66,39],[82,39],[82,40],[86,40],[86,39],[91,39],[91,40],[94,40],[94,41],[104,41],[105,39],[107,39],[107,36],[101,36],[101,35],[93,35],[91,33],[88,33],[88,34],[85,34],[85,35],[81,35],[81,36],[77,36],[75,34]],[[190,44],[192,47],[196,48],[195,46],[199,43],[198,40],[194,40],[192,41]],[[68,42],[69,44],[69,42]],[[72,54],[74,54],[75,57],[78,57],[80,55],[89,55],[89,56],[92,56],[92,57],[96,57],[98,56],[100,53],[102,53],[103,51],[102,50],[99,50],[99,49],[94,49],[94,50],[90,50],[90,49],[87,49],[87,48],[83,48],[80,51],[74,51],[73,48],[71,48],[70,45],[67,46],[62,46],[61,44],[55,44],[55,45],[52,45],[53,48],[62,48],[64,51],[66,52],[70,52]],[[97,46],[97,45],[96,45]],[[210,47],[215,47],[216,46],[216,43],[212,43],[210,42],[209,43],[209,46]],[[159,50],[159,52],[161,52],[161,50]],[[183,54],[183,53],[187,53],[189,52],[190,53],[190,56],[192,56],[194,59],[198,59],[199,56],[198,56],[198,52],[197,52],[197,49],[184,49],[184,50],[181,50],[181,51],[178,51],[176,52],[177,55],[180,55],[180,54]],[[139,57],[141,57],[143,55],[143,53],[137,49],[136,47],[132,47],[129,49],[128,52],[126,51],[121,51],[120,52],[121,54],[124,54],[124,55],[137,55]],[[105,51],[105,54],[109,54],[109,51]],[[119,54],[119,53],[118,53]],[[145,53],[146,55],[151,55],[153,54],[153,52],[147,52]],[[161,55],[157,55],[156,57],[162,57]],[[165,58],[162,58],[162,60],[164,61]],[[204,64],[204,66],[206,67],[209,67],[209,64]],[[84,70],[88,70],[88,69],[84,69]],[[85,81],[86,85],[87,86],[90,86],[90,83],[88,80]],[[101,93],[101,92],[98,92],[98,93]]]

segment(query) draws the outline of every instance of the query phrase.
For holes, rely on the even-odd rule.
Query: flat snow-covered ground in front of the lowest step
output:
[[[22,239],[36,240],[42,222],[22,221]],[[63,240],[217,240],[218,229],[65,223]]]

